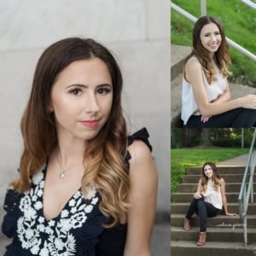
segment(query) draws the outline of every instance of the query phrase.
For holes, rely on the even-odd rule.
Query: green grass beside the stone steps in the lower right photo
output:
[[[186,168],[202,166],[205,162],[218,163],[229,160],[241,154],[247,154],[247,148],[217,148],[217,149],[172,149],[171,150],[171,191],[177,191],[177,184],[181,183],[186,174]]]

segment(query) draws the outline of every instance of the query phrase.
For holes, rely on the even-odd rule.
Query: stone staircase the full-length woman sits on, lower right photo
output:
[[[226,197],[229,212],[239,213],[238,194],[244,166],[218,166],[218,172],[226,183]],[[178,185],[177,193],[171,196],[171,255],[172,256],[255,256],[256,255],[256,203],[250,204],[247,212],[248,246],[243,246],[242,220],[225,216],[220,212],[214,218],[207,218],[207,242],[203,247],[195,245],[199,234],[199,218],[191,219],[191,230],[183,230],[185,212],[189,207],[201,177],[201,167],[190,168]],[[256,183],[253,183],[256,191]],[[253,194],[254,199],[256,193]]]

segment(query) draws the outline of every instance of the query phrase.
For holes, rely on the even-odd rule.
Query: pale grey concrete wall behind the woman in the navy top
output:
[[[19,165],[20,116],[38,57],[61,38],[81,36],[95,38],[115,53],[132,131],[146,126],[154,147],[160,178],[157,210],[169,212],[169,13],[167,0],[0,0],[1,205]]]

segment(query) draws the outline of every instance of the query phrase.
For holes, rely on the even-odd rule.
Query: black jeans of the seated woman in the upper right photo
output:
[[[186,127],[189,128],[252,128],[256,125],[256,109],[236,108],[225,113],[212,115],[201,122],[201,115],[192,115]]]

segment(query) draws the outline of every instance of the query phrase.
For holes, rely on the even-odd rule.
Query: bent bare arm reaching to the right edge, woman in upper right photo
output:
[[[235,108],[256,109],[256,95],[247,95],[228,102],[208,102],[201,68],[199,61],[192,60],[187,65],[186,73],[187,78],[192,84],[195,100],[202,116],[212,116]]]

